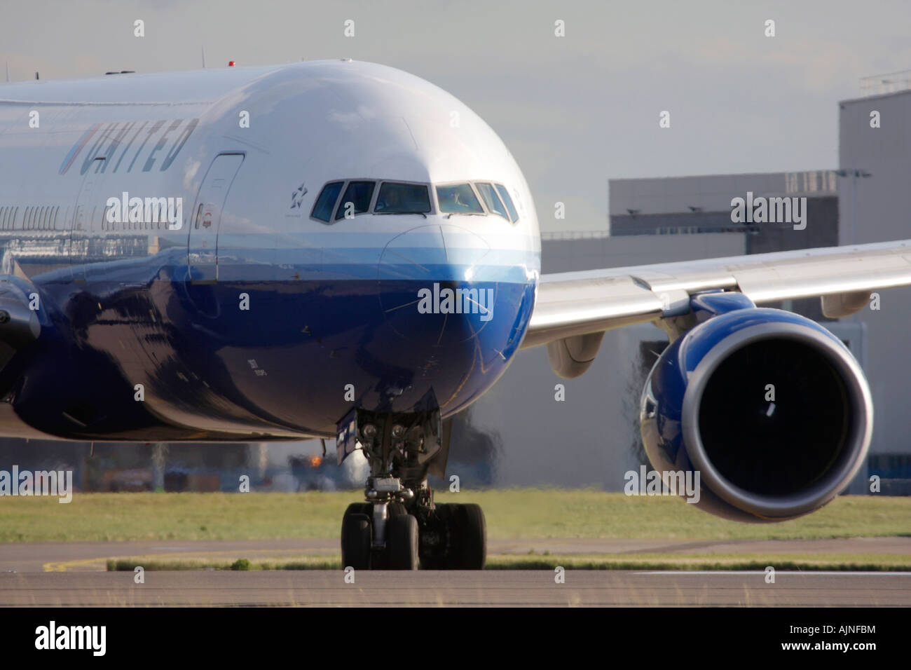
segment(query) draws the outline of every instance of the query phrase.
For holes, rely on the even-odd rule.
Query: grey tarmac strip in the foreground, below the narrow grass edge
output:
[[[907,606],[911,573],[567,571],[6,572],[18,606]]]

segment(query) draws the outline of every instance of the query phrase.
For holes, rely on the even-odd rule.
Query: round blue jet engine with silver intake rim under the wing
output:
[[[701,509],[784,521],[834,499],[864,462],[873,403],[847,347],[742,294],[691,300],[697,323],[652,367],[640,403],[653,469],[699,472]]]

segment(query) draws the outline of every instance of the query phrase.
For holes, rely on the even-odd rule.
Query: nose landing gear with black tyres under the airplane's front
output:
[[[340,461],[363,449],[366,502],[342,520],[342,562],[355,570],[483,570],[486,522],[475,504],[435,504],[427,473],[445,474],[438,410],[381,414],[354,409],[339,425]]]

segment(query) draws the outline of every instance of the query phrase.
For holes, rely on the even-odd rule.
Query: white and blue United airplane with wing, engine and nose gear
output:
[[[494,130],[350,59],[8,84],[0,156],[0,435],[336,438],[370,466],[355,569],[483,568],[483,511],[427,483],[452,417],[519,349],[572,378],[624,325],[669,335],[640,398],[654,469],[699,472],[725,518],[818,510],[864,462],[870,390],[762,305],[838,317],[911,284],[911,241],[542,274]]]

